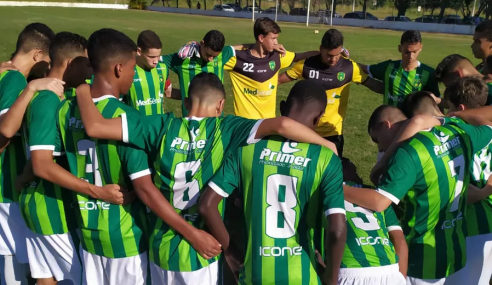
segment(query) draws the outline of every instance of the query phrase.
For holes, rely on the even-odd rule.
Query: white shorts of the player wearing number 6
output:
[[[152,285],[217,285],[219,262],[191,272],[168,271],[150,262],[150,274]]]

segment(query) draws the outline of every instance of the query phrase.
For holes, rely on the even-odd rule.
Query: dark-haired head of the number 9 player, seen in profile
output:
[[[122,32],[101,29],[89,37],[87,52],[94,76],[106,77],[126,94],[135,75],[137,45]]]

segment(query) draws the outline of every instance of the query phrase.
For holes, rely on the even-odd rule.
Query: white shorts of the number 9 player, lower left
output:
[[[80,249],[84,274],[82,285],[145,285],[149,259],[147,253],[108,258]]]

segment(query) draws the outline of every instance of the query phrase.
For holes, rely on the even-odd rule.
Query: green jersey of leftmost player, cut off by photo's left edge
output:
[[[5,114],[26,88],[24,75],[17,70],[0,74],[0,116]],[[10,140],[0,156],[0,203],[19,202],[19,193],[15,190],[15,179],[21,174],[26,163],[26,149],[20,134]]]

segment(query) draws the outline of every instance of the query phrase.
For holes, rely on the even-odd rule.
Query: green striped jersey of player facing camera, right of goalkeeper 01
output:
[[[387,60],[368,66],[369,75],[384,84],[383,104],[400,108],[405,97],[416,91],[430,91],[440,96],[439,85],[435,79],[435,70],[425,64],[412,71],[401,66],[401,60]]]

